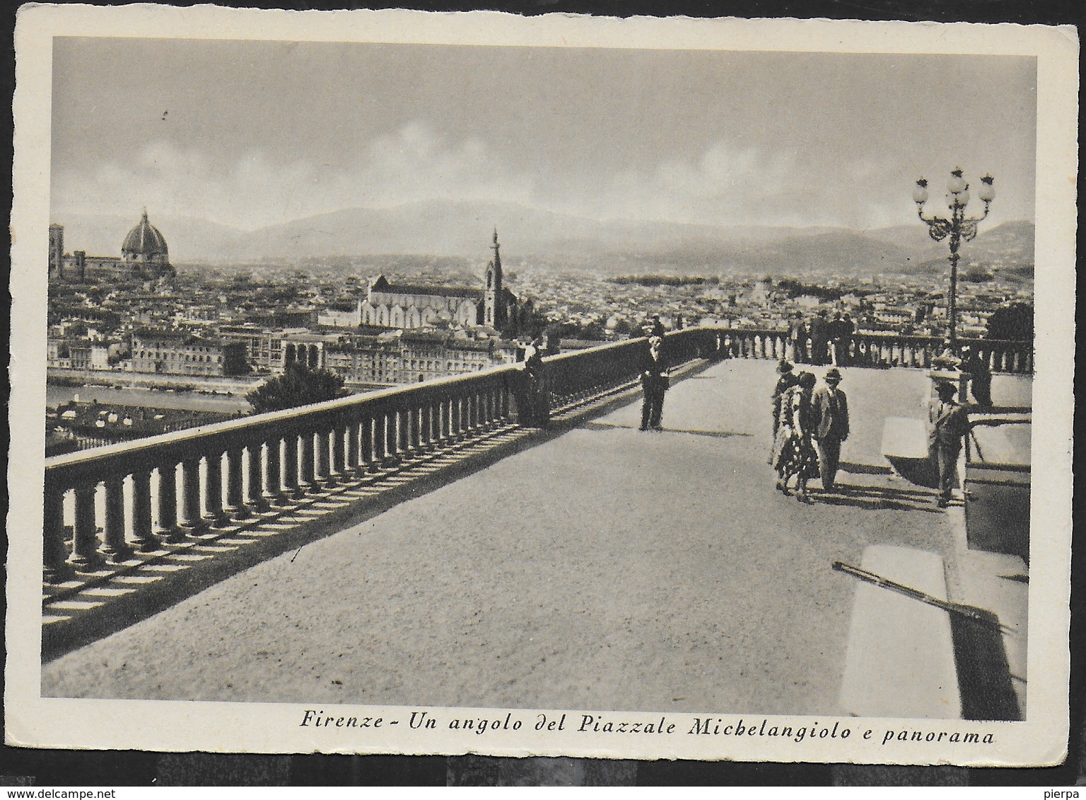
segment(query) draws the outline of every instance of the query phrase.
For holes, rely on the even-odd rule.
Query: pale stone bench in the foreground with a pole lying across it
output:
[[[871,545],[863,551],[861,567],[946,599],[943,559],[935,553]],[[948,613],[893,589],[858,582],[841,707],[855,716],[960,718]]]

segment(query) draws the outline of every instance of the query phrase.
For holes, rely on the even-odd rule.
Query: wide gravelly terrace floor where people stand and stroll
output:
[[[869,544],[954,557],[926,493],[880,473],[911,370],[845,370],[848,496],[766,466],[769,361],[629,405],[240,573],[43,668],[42,695],[832,714]]]

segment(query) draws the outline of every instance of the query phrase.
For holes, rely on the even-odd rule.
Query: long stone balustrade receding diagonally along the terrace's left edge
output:
[[[555,407],[637,380],[644,340],[546,359]],[[673,363],[710,331],[668,335]],[[527,379],[496,367],[46,459],[47,583],[214,533],[366,473],[516,422]]]

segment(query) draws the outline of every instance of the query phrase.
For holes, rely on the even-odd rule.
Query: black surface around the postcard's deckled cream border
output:
[[[96,3],[103,4],[103,3]],[[175,2],[191,5],[192,2]],[[236,4],[236,3],[220,3]],[[570,12],[607,16],[795,16],[800,18],[905,20],[935,22],[1086,22],[1082,0],[445,0],[444,2],[249,2],[250,8],[411,8],[427,11],[488,9],[526,15]],[[5,15],[9,47],[4,90],[14,87],[14,13]],[[933,110],[937,98],[933,98]],[[10,107],[10,106],[9,106]],[[949,110],[948,110],[949,113]],[[998,109],[993,109],[998,114]],[[11,124],[11,117],[5,120]],[[1079,128],[1082,124],[1079,123]],[[3,147],[10,147],[10,138]],[[11,151],[3,154],[11,161]],[[10,202],[10,201],[9,201]],[[1079,243],[1079,263],[1083,262]],[[9,299],[10,303],[10,299]],[[10,326],[10,315],[4,315]],[[9,335],[4,341],[10,342]],[[4,385],[7,392],[7,385]],[[7,397],[5,397],[7,399]],[[1077,459],[1076,459],[1077,465]],[[1077,480],[1075,481],[1077,488]],[[7,506],[7,487],[3,490]],[[1077,492],[1076,492],[1077,494]],[[1083,662],[1083,546],[1076,530],[1072,567],[1070,758],[1057,767],[1031,770],[776,764],[692,761],[592,761],[585,759],[496,759],[407,755],[256,755],[152,753],[140,751],[26,750],[0,747],[0,785],[43,786],[1070,786],[1086,783],[1086,694]],[[4,541],[7,549],[7,539]]]

